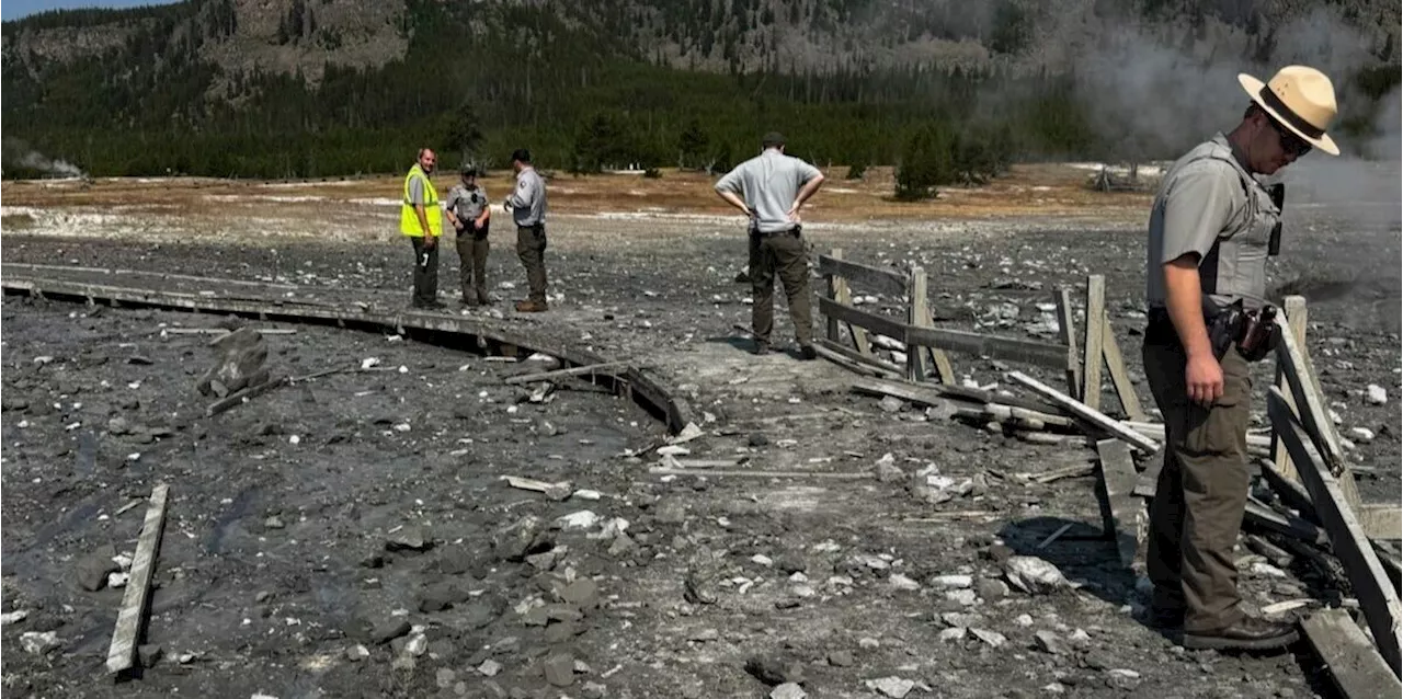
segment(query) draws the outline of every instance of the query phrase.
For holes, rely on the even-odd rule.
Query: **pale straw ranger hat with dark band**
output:
[[[1324,73],[1306,66],[1287,66],[1271,76],[1270,83],[1247,73],[1239,73],[1237,81],[1251,101],[1277,119],[1277,124],[1316,149],[1331,156],[1340,154],[1340,147],[1326,133],[1338,107],[1334,102],[1334,84]]]

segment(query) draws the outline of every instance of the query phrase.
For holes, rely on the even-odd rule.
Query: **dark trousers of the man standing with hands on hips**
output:
[[[770,341],[774,330],[774,277],[779,274],[794,320],[794,338],[800,345],[814,342],[812,299],[808,291],[808,253],[797,230],[788,233],[751,233],[751,328],[755,340]]]

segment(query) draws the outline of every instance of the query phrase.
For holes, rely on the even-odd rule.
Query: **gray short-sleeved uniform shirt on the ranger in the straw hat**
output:
[[[1204,312],[1242,300],[1258,307],[1267,292],[1267,241],[1281,211],[1233,157],[1222,133],[1179,159],[1164,174],[1149,219],[1145,299],[1164,306],[1164,264],[1198,255]]]

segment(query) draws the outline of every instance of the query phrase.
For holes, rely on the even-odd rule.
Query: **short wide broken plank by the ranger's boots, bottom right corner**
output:
[[[1403,684],[1348,612],[1322,609],[1302,620],[1301,629],[1344,699],[1403,698]]]

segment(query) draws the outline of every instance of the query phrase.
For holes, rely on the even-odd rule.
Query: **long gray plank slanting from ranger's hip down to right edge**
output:
[[[1288,368],[1288,376],[1291,369]],[[1299,396],[1298,396],[1299,397]],[[1301,401],[1298,401],[1301,404]],[[1374,545],[1369,543],[1364,526],[1345,501],[1340,484],[1320,455],[1310,445],[1310,438],[1301,421],[1287,404],[1287,396],[1273,386],[1267,397],[1267,413],[1277,428],[1291,460],[1296,465],[1301,483],[1316,504],[1316,514],[1324,522],[1330,546],[1350,578],[1350,587],[1360,599],[1360,608],[1374,632],[1374,643],[1383,661],[1397,677],[1403,672],[1403,601],[1397,588],[1389,580]]]

